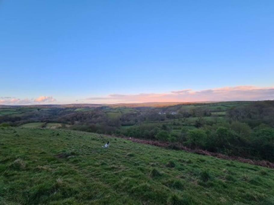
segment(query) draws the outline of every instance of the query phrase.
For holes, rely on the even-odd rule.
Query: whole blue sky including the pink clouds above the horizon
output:
[[[274,99],[274,1],[0,0],[0,104]]]

